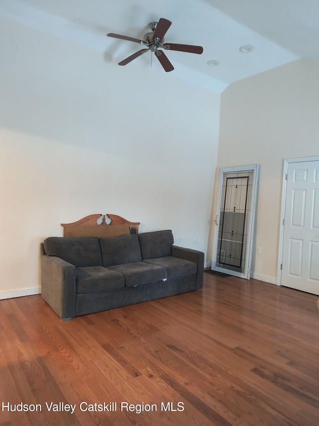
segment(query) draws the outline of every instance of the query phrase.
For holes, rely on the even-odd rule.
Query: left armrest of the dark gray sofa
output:
[[[75,266],[56,256],[41,254],[42,299],[62,320],[75,316]]]

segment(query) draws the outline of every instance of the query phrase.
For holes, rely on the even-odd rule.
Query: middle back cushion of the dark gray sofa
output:
[[[100,238],[102,265],[104,267],[122,263],[141,262],[141,250],[136,234],[123,237]]]

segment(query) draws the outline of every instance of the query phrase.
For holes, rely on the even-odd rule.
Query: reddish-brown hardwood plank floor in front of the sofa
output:
[[[0,425],[318,426],[318,296],[204,276],[69,322],[0,301]]]

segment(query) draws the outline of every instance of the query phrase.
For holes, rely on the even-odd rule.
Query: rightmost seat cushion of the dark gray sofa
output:
[[[197,265],[185,259],[178,259],[177,257],[166,256],[157,259],[146,259],[143,263],[151,265],[158,265],[166,268],[167,278],[184,277],[185,275],[193,275],[197,273]]]

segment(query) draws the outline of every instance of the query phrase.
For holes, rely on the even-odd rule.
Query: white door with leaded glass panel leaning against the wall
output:
[[[220,172],[211,269],[250,278],[259,165]]]

